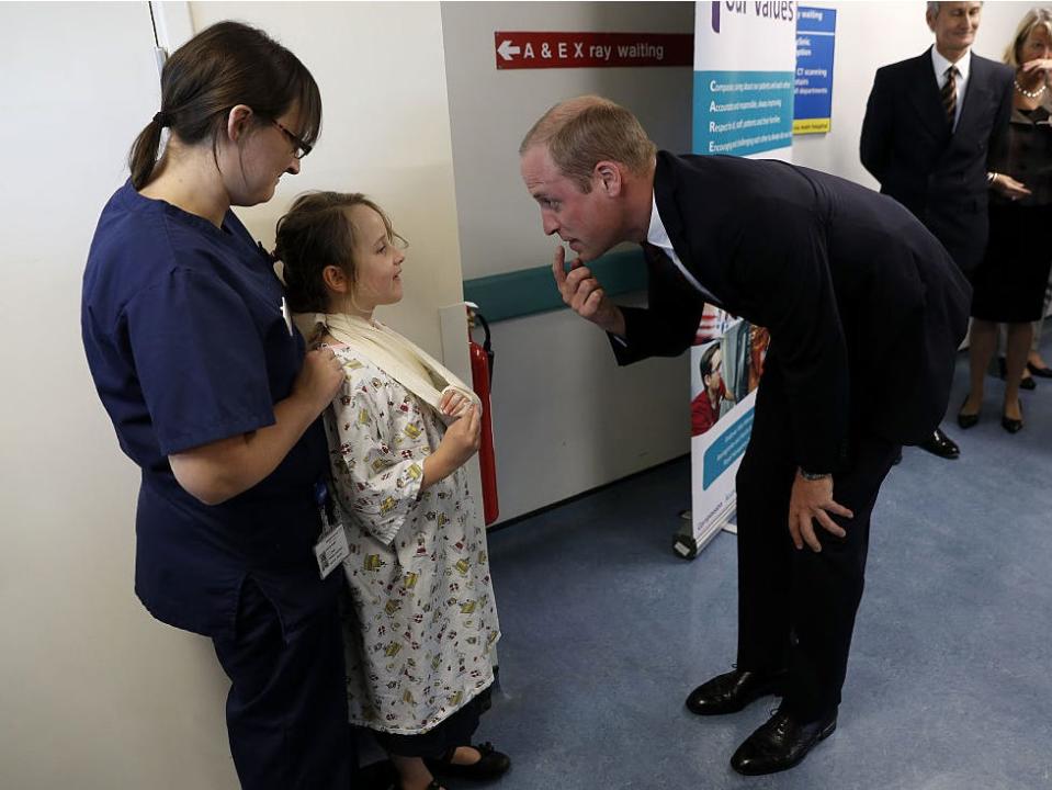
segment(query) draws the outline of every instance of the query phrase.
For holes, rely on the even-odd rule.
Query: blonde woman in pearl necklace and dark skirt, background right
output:
[[[980,418],[983,379],[997,343],[997,325],[1008,326],[1007,375],[1000,424],[1022,428],[1019,382],[1027,364],[1032,321],[1041,317],[1052,263],[1045,241],[1052,227],[1052,11],[1027,12],[1005,53],[1016,69],[1011,121],[1002,150],[995,151],[986,258],[972,274],[969,334],[971,392],[957,420],[971,428]]]

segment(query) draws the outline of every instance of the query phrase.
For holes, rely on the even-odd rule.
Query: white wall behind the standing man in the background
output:
[[[875,179],[859,161],[859,135],[873,75],[881,66],[919,55],[935,41],[925,22],[923,2],[821,2],[837,10],[833,77],[833,128],[826,135],[798,135],[796,165],[842,176],[873,189]],[[975,52],[1000,60],[1016,25],[1033,7],[1029,2],[987,2],[975,38]]]

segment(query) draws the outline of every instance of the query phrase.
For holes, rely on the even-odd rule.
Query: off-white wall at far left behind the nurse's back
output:
[[[133,594],[138,475],[81,351],[80,276],[159,106],[146,3],[0,5],[0,787],[231,787],[204,640]]]

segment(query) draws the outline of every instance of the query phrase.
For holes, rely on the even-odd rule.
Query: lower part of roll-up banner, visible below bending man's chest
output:
[[[705,305],[690,351],[690,421],[694,541],[734,531],[734,475],[748,443],[753,404],[770,334]],[[701,494],[701,496],[698,496]],[[704,507],[698,508],[697,503]]]

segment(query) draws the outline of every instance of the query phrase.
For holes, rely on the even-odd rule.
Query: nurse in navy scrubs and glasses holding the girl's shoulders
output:
[[[83,281],[88,363],[143,473],[135,590],[157,619],[212,637],[252,790],[347,790],[355,763],[342,573],[323,580],[314,553],[317,418],[343,375],[331,351],[305,352],[269,257],[230,211],[299,172],[320,123],[318,87],[292,53],[237,23],[203,31],[165,65],[160,112],[102,212]]]

